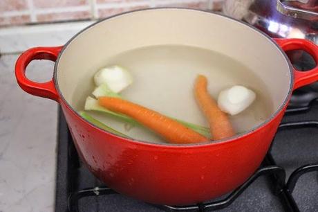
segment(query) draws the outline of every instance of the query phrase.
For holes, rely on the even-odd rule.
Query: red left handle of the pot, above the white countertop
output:
[[[51,60],[55,62],[63,46],[35,47],[22,53],[15,63],[15,77],[21,89],[35,96],[50,98],[59,102],[53,79],[48,82],[34,82],[26,77],[26,67],[32,60]]]

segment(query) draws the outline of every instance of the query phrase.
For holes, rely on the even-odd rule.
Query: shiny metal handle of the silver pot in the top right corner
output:
[[[318,17],[317,12],[312,12],[309,10],[303,10],[300,8],[294,8],[292,6],[287,6],[283,3],[283,0],[277,0],[277,11],[283,15],[287,15],[297,19],[305,19],[309,21],[316,20]]]

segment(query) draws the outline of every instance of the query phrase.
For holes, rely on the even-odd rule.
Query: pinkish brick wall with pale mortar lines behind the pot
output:
[[[223,0],[0,0],[0,26],[101,19],[140,8],[220,10]]]

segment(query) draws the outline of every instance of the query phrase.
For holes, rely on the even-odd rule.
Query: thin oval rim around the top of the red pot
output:
[[[143,10],[194,10],[194,11],[198,11],[198,12],[206,12],[206,13],[210,13],[213,15],[218,15],[220,17],[223,17],[225,19],[230,19],[232,21],[236,21],[236,23],[238,24],[243,24],[244,26],[247,26],[249,28],[254,29],[256,32],[258,32],[260,35],[262,35],[263,37],[265,37],[266,39],[268,39],[269,42],[271,42],[272,44],[274,44],[275,46],[277,46],[278,50],[282,53],[283,57],[286,60],[286,63],[288,64],[289,70],[290,70],[290,88],[288,90],[288,94],[286,95],[285,100],[283,101],[283,104],[281,104],[281,106],[277,109],[276,112],[272,113],[272,115],[268,118],[266,118],[265,121],[263,121],[260,125],[257,125],[256,127],[253,127],[251,130],[248,130],[247,132],[241,133],[241,134],[236,134],[235,136],[230,137],[230,139],[221,139],[218,141],[207,141],[207,142],[202,142],[202,143],[191,143],[191,144],[174,144],[174,143],[151,143],[149,141],[140,141],[138,139],[127,139],[124,138],[122,136],[118,136],[116,134],[113,134],[112,132],[108,132],[106,130],[103,130],[100,127],[97,127],[96,125],[94,125],[93,123],[90,123],[88,121],[86,121],[84,118],[82,118],[82,116],[79,115],[79,113],[73,109],[73,107],[66,101],[66,99],[64,98],[62,91],[60,91],[59,89],[59,83],[57,81],[57,64],[59,64],[59,59],[61,58],[61,56],[63,55],[63,52],[65,51],[65,49],[68,47],[68,44],[71,44],[71,42],[73,41],[73,39],[75,39],[79,34],[83,33],[84,31],[88,30],[89,28],[100,24],[102,21],[106,21],[109,19],[112,19],[114,17],[119,17],[122,15],[127,15],[129,13],[133,13],[133,12],[139,12],[139,11],[143,11]],[[59,99],[62,100],[62,102],[64,103],[64,105],[66,105],[66,107],[75,115],[77,116],[82,122],[91,125],[91,127],[94,127],[97,130],[100,130],[104,133],[110,134],[111,136],[115,136],[117,138],[120,138],[122,140],[125,140],[127,142],[132,142],[138,145],[147,145],[147,146],[153,146],[156,148],[178,148],[178,149],[183,149],[183,148],[205,148],[209,145],[221,145],[221,144],[225,144],[225,143],[230,143],[230,142],[234,142],[238,139],[241,139],[245,136],[248,136],[249,134],[252,134],[258,130],[260,130],[261,128],[265,127],[266,125],[268,125],[269,123],[271,123],[274,118],[276,118],[282,111],[283,109],[286,107],[286,105],[288,104],[290,97],[292,95],[292,90],[293,90],[293,85],[294,85],[294,71],[292,68],[292,64],[290,63],[290,60],[288,59],[288,56],[286,55],[286,53],[283,51],[283,49],[279,46],[279,44],[277,44],[276,42],[274,42],[274,39],[272,39],[272,37],[270,37],[269,35],[263,33],[261,30],[259,30],[258,28],[255,28],[254,26],[250,26],[249,24],[234,19],[232,17],[227,17],[225,15],[221,15],[219,13],[216,12],[211,12],[211,11],[207,11],[207,10],[200,10],[200,9],[192,9],[192,8],[176,8],[176,7],[163,7],[163,8],[146,8],[146,9],[140,9],[140,10],[133,10],[133,11],[129,11],[129,12],[123,12],[120,13],[118,15],[113,15],[111,17],[106,17],[105,19],[102,19],[100,21],[96,21],[95,23],[91,24],[90,26],[87,26],[86,28],[80,30],[77,34],[75,34],[73,37],[71,37],[71,39],[68,40],[68,42],[66,42],[66,44],[63,46],[62,50],[59,52],[59,55],[57,56],[57,60],[55,62],[55,66],[54,66],[54,72],[53,72],[53,82],[55,84],[55,89],[57,90],[57,94],[59,94]]]

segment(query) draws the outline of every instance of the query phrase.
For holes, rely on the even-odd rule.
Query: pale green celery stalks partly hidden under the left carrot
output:
[[[122,96],[120,96],[120,94],[116,94],[113,91],[111,91],[106,84],[103,84],[103,85],[100,85],[99,87],[97,87],[93,91],[93,95],[96,98],[101,97],[101,96],[122,98]],[[98,101],[95,98],[91,98],[90,96],[88,96],[88,98],[86,98],[85,110],[104,112],[105,114],[110,114],[111,116],[115,116],[117,118],[121,118],[123,121],[126,121],[127,123],[130,123],[132,125],[138,124],[137,121],[135,121],[133,118],[130,118],[129,116],[125,116],[123,114],[118,114],[116,112],[110,111],[109,109],[106,109],[105,107],[101,107],[98,104]],[[169,118],[171,118],[171,117],[169,117]],[[200,126],[200,125],[195,125],[193,123],[188,123],[186,121],[181,121],[181,120],[178,120],[176,118],[171,118],[171,119],[174,119],[175,121],[178,121],[178,122],[182,123],[186,127],[191,128],[192,130],[202,134],[203,136],[205,136],[207,138],[209,138],[211,136],[209,134],[209,128],[207,128],[207,127],[203,127],[203,126]]]

